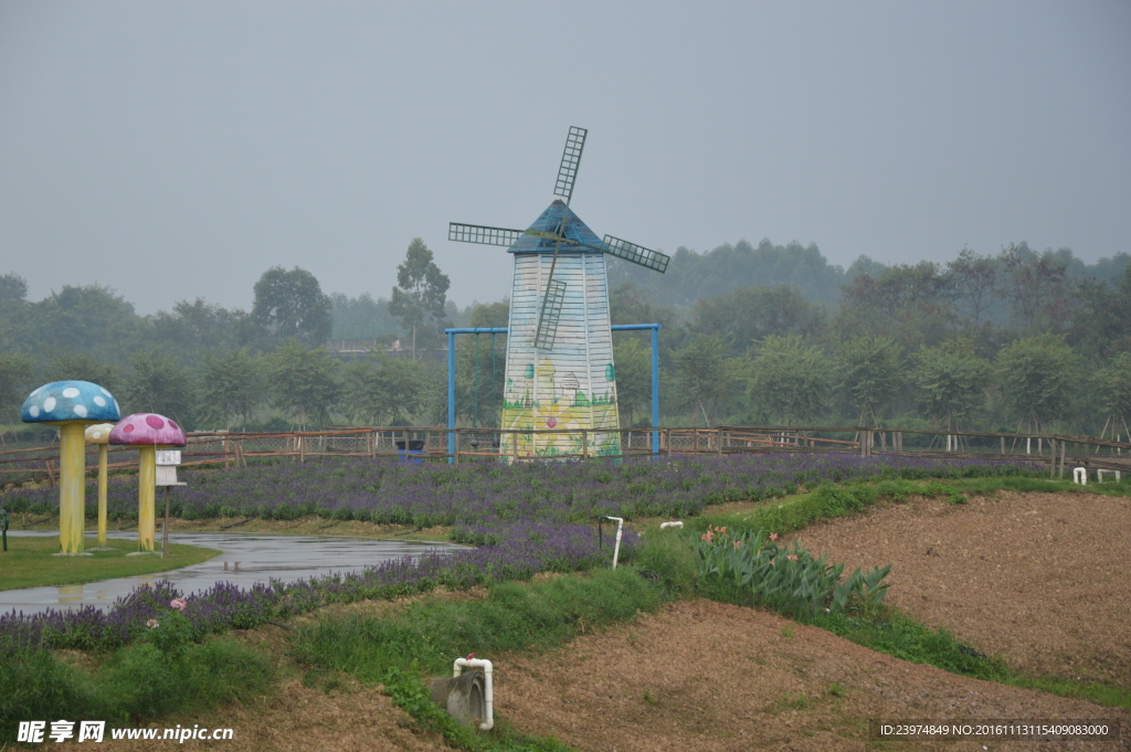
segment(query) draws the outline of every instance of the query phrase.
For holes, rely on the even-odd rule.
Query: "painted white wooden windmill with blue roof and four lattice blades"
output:
[[[668,258],[605,235],[569,208],[588,131],[571,127],[555,199],[526,230],[451,223],[448,240],[509,247],[515,254],[503,390],[503,456],[620,455],[616,369],[608,318],[605,254],[663,274]],[[585,433],[582,433],[585,431]]]

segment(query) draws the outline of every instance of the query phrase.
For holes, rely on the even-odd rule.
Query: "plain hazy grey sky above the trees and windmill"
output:
[[[0,0],[0,274],[138,312],[248,308],[273,265],[460,304],[589,129],[572,208],[665,251],[1131,251],[1131,2]]]

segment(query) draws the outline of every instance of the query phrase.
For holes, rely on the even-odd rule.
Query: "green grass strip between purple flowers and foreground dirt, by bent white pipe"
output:
[[[499,719],[477,734],[437,707],[421,681],[450,675],[452,656],[489,658],[504,650],[545,650],[575,636],[651,611],[662,590],[628,568],[559,577],[533,585],[497,585],[483,600],[429,598],[386,616],[333,616],[302,629],[295,655],[316,671],[381,682],[418,727],[461,749],[484,752],[569,750],[552,738],[525,736]]]

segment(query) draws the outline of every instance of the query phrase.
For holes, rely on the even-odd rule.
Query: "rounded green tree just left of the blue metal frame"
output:
[[[375,353],[345,368],[345,412],[372,425],[407,424],[420,413],[425,369],[417,361]]]

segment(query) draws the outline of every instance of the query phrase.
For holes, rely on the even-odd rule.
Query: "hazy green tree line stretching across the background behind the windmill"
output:
[[[668,425],[832,421],[1114,433],[1119,424],[1125,433],[1126,254],[1087,266],[1065,249],[1038,253],[1020,243],[994,256],[962,249],[944,265],[862,257],[839,271],[815,247],[763,241],[677,253],[663,284],[683,274],[676,258],[692,269],[679,294],[658,288],[659,275],[641,285],[615,263],[610,270],[613,323],[664,325]],[[787,279],[697,292],[733,285],[739,271],[763,261]],[[197,299],[138,317],[97,285],[31,302],[26,283],[9,274],[0,277],[0,424],[18,422],[35,386],[62,378],[96,381],[129,412],[165,413],[199,429],[442,423],[443,327],[507,326],[508,303],[458,309],[418,239],[395,278],[387,299],[349,299],[323,294],[309,271],[274,267],[256,283],[250,311]],[[374,352],[325,349],[346,325],[375,334],[365,337],[378,339]],[[396,336],[414,343],[406,356],[381,346]],[[460,421],[495,425],[506,337],[465,336],[458,345]],[[625,425],[650,416],[648,348],[647,332],[614,336]]]

